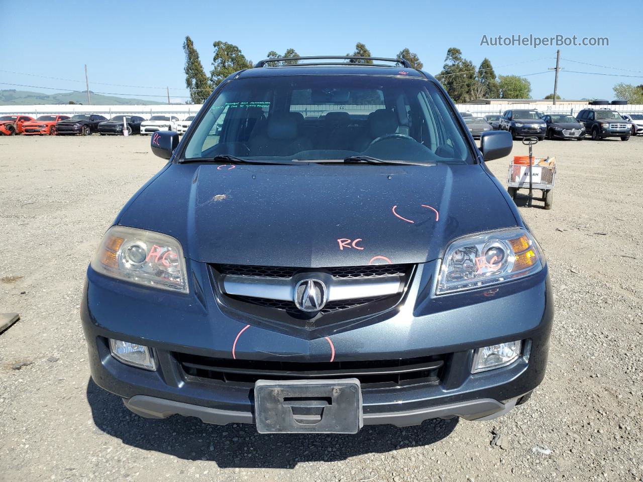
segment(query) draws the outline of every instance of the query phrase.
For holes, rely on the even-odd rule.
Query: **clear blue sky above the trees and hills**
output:
[[[631,5],[615,9],[610,3],[595,2],[592,6],[587,1],[114,0],[66,3],[62,8],[62,3],[51,1],[27,4],[0,0],[0,83],[84,90],[87,64],[92,91],[158,95],[148,98],[163,100],[169,86],[173,100],[184,100],[181,46],[185,35],[194,40],[206,73],[212,63],[212,42],[224,40],[239,46],[255,62],[266,57],[269,50],[283,52],[290,47],[300,55],[342,55],[352,51],[356,42],[364,42],[373,55],[381,57],[395,56],[408,47],[434,75],[442,69],[447,49],[455,46],[476,66],[488,57],[496,75],[525,75],[553,67],[557,47],[481,46],[482,36],[577,35],[579,39],[608,37],[609,46],[562,46],[561,57],[569,60],[561,62],[566,70],[559,77],[559,94],[568,99],[611,100],[612,87],[618,82],[643,84],[639,35],[643,8]],[[553,91],[553,72],[527,78],[532,97],[542,98]],[[55,92],[0,84],[0,89],[11,88]]]

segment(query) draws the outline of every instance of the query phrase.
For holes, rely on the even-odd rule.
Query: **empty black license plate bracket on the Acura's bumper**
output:
[[[359,380],[257,380],[255,422],[258,433],[358,433]]]

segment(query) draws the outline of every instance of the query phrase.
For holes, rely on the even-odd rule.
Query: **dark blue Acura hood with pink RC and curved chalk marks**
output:
[[[171,235],[199,262],[418,263],[454,238],[516,226],[500,189],[480,165],[172,164],[118,224]]]

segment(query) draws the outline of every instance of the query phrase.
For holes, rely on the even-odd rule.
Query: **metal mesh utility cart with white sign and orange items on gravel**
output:
[[[537,138],[525,138],[523,144],[529,146],[528,156],[514,156],[514,161],[509,165],[507,177],[507,192],[516,199],[519,189],[529,189],[527,206],[531,206],[534,189],[541,190],[541,201],[545,201],[545,209],[550,210],[554,202],[554,183],[556,182],[556,159],[537,158],[532,154],[532,145],[538,143]]]

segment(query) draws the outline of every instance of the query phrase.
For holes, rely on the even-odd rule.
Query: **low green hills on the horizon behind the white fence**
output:
[[[154,100],[126,99],[109,95],[95,94],[89,91],[92,105],[156,105],[166,102]],[[87,104],[87,94],[84,92],[62,92],[58,94],[43,94],[41,92],[16,91],[14,89],[0,90],[0,105],[42,105]]]

